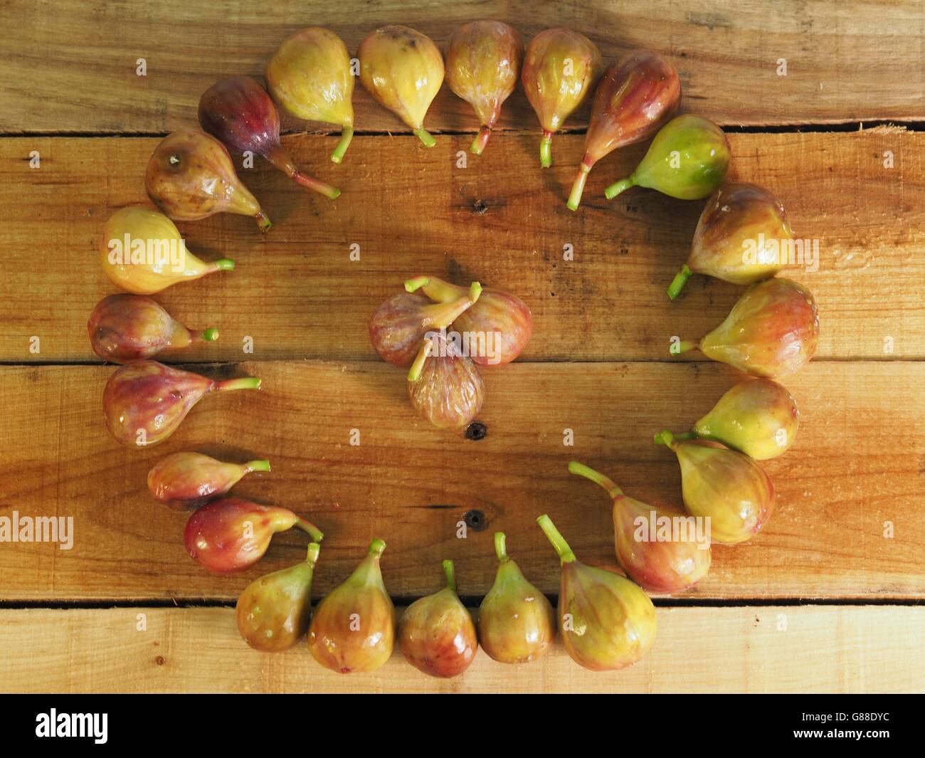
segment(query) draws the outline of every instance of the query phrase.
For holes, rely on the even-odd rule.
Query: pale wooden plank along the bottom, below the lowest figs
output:
[[[922,692],[909,655],[925,608],[659,608],[652,650],[618,672],[579,667],[557,641],[528,665],[478,652],[453,679],[426,677],[396,650],[344,677],[297,643],[260,653],[230,608],[0,610],[0,681],[10,692]],[[139,627],[144,627],[143,631]],[[722,630],[722,633],[717,633]]]

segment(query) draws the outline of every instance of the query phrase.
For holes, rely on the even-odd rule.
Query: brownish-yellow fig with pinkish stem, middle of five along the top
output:
[[[517,86],[523,59],[520,36],[501,21],[473,21],[450,35],[447,83],[482,123],[469,148],[475,155],[485,150],[501,105]]]

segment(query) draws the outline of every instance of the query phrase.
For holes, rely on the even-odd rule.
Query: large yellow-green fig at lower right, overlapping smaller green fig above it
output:
[[[748,541],[771,517],[771,477],[746,454],[698,440],[676,440],[667,429],[655,441],[678,456],[685,506],[691,516],[709,518],[712,541]]]

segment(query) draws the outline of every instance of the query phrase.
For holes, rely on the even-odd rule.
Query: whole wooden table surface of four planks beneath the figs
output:
[[[303,643],[253,652],[234,624],[240,590],[298,561],[303,535],[278,535],[245,573],[205,573],[183,549],[184,516],[147,493],[154,460],[179,450],[268,458],[273,472],[236,493],[324,529],[316,597],[377,536],[388,542],[383,573],[397,603],[437,590],[438,563],[452,558],[477,605],[494,577],[498,529],[552,596],[559,566],[536,528],[540,513],[586,563],[616,567],[608,499],[567,462],[597,467],[640,500],[680,504],[677,464],[651,436],[685,429],[737,379],[668,354],[672,335],[702,335],[741,292],[698,277],[678,302],[665,296],[702,202],[638,189],[603,199],[644,145],[600,161],[572,213],[565,199],[586,113],[570,119],[553,141],[555,165],[540,171],[536,117],[518,88],[485,155],[460,168],[477,124],[446,86],[425,120],[432,150],[358,86],[357,136],[341,166],[327,160],[335,134],[285,124],[284,145],[341,189],[336,202],[258,163],[240,175],[275,222],[264,238],[245,217],[179,224],[192,250],[238,267],[157,296],[184,323],[221,330],[215,344],[170,360],[214,377],[259,376],[263,391],[203,401],[153,450],[108,435],[100,398],[113,367],[93,354],[86,319],[115,289],[96,245],[113,210],[144,200],[160,136],[194,124],[216,79],[260,76],[277,43],[304,26],[328,26],[354,51],[386,23],[442,46],[477,18],[506,20],[526,40],[569,26],[608,62],[639,46],[668,56],[684,110],[730,132],[731,177],[771,188],[797,235],[820,241],[818,270],[791,274],[819,303],[819,351],[784,379],[802,418],[791,450],[767,464],[778,512],[753,541],[715,548],[696,590],[656,599],[659,632],[645,660],[594,674],[557,644],[520,667],[481,653],[462,677],[438,681],[396,652],[375,674],[340,677]],[[75,529],[68,551],[0,542],[0,689],[925,690],[919,3],[14,0],[0,21],[0,516],[73,516]],[[33,151],[41,168],[31,168]],[[484,440],[413,416],[401,371],[369,345],[376,306],[422,273],[510,289],[533,310],[522,358],[483,372]],[[253,354],[242,350],[247,337]],[[458,539],[470,512],[483,528]]]

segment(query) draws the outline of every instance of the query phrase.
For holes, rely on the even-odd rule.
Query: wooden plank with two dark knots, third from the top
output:
[[[277,535],[265,559],[232,577],[185,554],[185,517],[154,503],[147,470],[198,450],[266,457],[268,475],[235,492],[287,505],[327,537],[316,588],[339,583],[373,537],[388,542],[390,592],[438,585],[443,558],[460,590],[494,577],[492,532],[536,586],[558,591],[559,566],[534,519],[548,512],[590,564],[614,565],[610,503],[566,471],[595,466],[636,498],[680,504],[678,466],[651,435],[685,429],[734,382],[714,365],[514,364],[486,370],[487,437],[467,441],[413,416],[401,371],[378,363],[251,363],[214,376],[259,375],[264,390],[206,398],[166,443],[127,450],[105,430],[111,367],[4,367],[0,514],[73,516],[74,543],[0,544],[0,599],[233,601],[253,578],[302,558],[304,535]],[[768,462],[778,510],[746,545],[715,549],[692,598],[925,597],[925,364],[813,363],[788,381],[802,412],[794,447]],[[360,445],[351,446],[351,429]],[[563,430],[574,444],[563,446]],[[470,510],[484,530],[457,536]],[[888,536],[892,533],[892,536]]]

